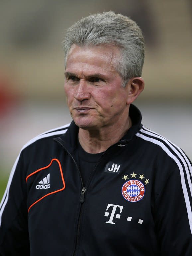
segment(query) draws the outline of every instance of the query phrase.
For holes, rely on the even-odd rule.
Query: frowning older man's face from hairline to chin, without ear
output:
[[[67,59],[64,89],[76,125],[100,130],[128,117],[128,88],[114,68],[115,46],[73,45]]]

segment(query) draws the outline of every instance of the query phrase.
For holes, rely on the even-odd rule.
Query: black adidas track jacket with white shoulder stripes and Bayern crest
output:
[[[133,105],[130,117],[87,184],[74,122],[23,147],[0,205],[1,256],[192,255],[191,162]]]

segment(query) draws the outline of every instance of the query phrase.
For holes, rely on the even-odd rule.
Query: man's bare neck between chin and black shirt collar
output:
[[[92,154],[104,152],[111,145],[117,143],[132,126],[130,117],[121,126],[102,130],[83,130],[79,128],[79,143],[82,148]]]

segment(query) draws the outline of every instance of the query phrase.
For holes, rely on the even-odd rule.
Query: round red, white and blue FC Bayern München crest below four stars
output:
[[[122,195],[129,202],[137,202],[144,196],[145,188],[139,180],[129,180],[123,184]]]

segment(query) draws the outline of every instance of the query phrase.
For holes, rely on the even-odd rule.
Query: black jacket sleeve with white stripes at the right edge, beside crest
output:
[[[161,256],[192,255],[192,166],[178,162],[156,199],[155,224]]]

